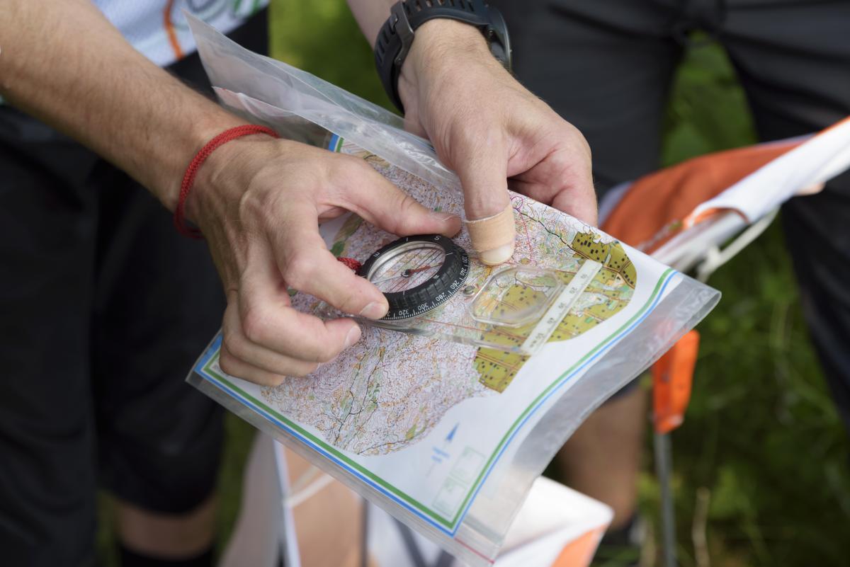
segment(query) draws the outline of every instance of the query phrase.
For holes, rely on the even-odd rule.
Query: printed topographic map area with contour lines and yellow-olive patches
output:
[[[435,190],[418,177],[348,143],[343,145],[343,152],[368,161],[422,205],[462,214],[460,194]],[[564,284],[570,283],[583,262],[600,265],[549,342],[577,337],[626,306],[637,276],[619,242],[523,195],[512,193],[511,201],[518,238],[509,265],[547,268]],[[349,216],[337,229],[331,251],[362,260],[396,238]],[[471,250],[465,231],[455,241]],[[467,283],[480,286],[490,278],[493,268],[472,260]],[[538,294],[533,286],[523,283],[502,291],[501,303],[513,307],[536,300]],[[294,295],[292,303],[307,312],[320,308],[319,301],[309,295]],[[467,306],[468,301],[450,300],[428,313],[428,322],[423,324],[443,334],[467,332],[473,340],[491,345],[520,345],[532,330],[531,323],[524,327],[476,328],[469,323]],[[331,445],[360,455],[387,454],[416,443],[460,401],[510,396],[509,386],[528,360],[517,352],[475,347],[438,336],[369,326],[363,331],[358,348],[344,351],[313,375],[288,379],[262,391],[264,400],[280,413],[314,426]]]

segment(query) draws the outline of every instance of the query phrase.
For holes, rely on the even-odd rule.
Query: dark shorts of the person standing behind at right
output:
[[[659,167],[667,96],[691,29],[728,52],[762,140],[850,115],[847,0],[490,3],[507,21],[519,80],[590,143],[599,192]],[[850,430],[850,173],[782,213],[803,312]]]

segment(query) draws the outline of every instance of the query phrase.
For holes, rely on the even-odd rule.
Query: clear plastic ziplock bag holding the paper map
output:
[[[423,205],[462,215],[457,177],[398,116],[248,52],[198,20],[190,25],[229,109],[283,137],[358,156]],[[218,336],[188,380],[457,558],[491,564],[530,486],[575,428],[719,300],[717,290],[569,215],[520,194],[511,201],[519,238],[507,269],[559,281],[543,293],[518,278],[495,300],[521,307],[531,292],[548,294],[534,317],[512,327],[485,312],[472,340],[420,323],[366,326],[336,360],[276,388],[224,373]],[[332,252],[360,260],[396,238],[356,216],[321,232]],[[469,250],[465,231],[453,240]],[[478,291],[501,273],[469,260],[465,285]],[[478,291],[434,312],[449,317],[448,326],[472,317]],[[553,312],[567,293],[575,297]],[[307,295],[293,295],[292,305],[326,314]],[[518,345],[547,318],[554,323],[530,356]]]

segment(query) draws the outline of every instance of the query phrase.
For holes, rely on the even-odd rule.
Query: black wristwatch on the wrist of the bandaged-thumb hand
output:
[[[405,112],[399,98],[399,74],[413,44],[416,29],[434,18],[448,18],[479,28],[490,53],[511,70],[511,43],[507,25],[496,8],[484,0],[400,0],[390,9],[389,19],[381,26],[375,42],[375,65],[383,88],[395,106]]]

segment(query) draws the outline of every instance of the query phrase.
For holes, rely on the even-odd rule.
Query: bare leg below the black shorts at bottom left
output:
[[[116,502],[118,535],[134,553],[158,559],[190,559],[212,546],[216,502],[212,497],[187,514],[161,514]]]

